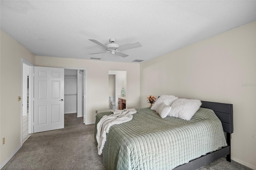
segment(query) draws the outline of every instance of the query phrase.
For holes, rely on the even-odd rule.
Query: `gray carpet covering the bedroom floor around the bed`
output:
[[[32,134],[2,170],[105,170],[94,144],[94,124],[65,114],[64,129]],[[220,158],[198,170],[250,170]]]

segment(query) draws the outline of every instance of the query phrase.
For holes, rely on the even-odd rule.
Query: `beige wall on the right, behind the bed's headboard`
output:
[[[140,100],[172,94],[232,103],[232,159],[256,169],[256,22],[140,64]]]

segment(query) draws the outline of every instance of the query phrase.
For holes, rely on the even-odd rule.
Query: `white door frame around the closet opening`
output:
[[[86,67],[66,67],[66,66],[61,66],[61,68],[64,69],[74,69],[74,70],[84,70],[84,75],[85,75],[85,79],[84,79],[84,124],[85,125],[89,125],[91,123],[88,122],[87,119],[87,69]]]

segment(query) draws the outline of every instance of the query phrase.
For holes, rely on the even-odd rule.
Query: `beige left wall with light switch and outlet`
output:
[[[1,30],[0,32],[0,164],[21,145],[22,58],[35,63],[35,55]],[[2,145],[2,138],[5,144]]]

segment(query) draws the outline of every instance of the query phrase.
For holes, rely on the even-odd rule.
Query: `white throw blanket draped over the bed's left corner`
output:
[[[112,115],[103,116],[97,124],[96,139],[98,142],[98,154],[102,154],[104,144],[106,142],[106,134],[112,125],[118,125],[121,123],[132,120],[132,115],[137,111],[135,109],[114,110]]]

